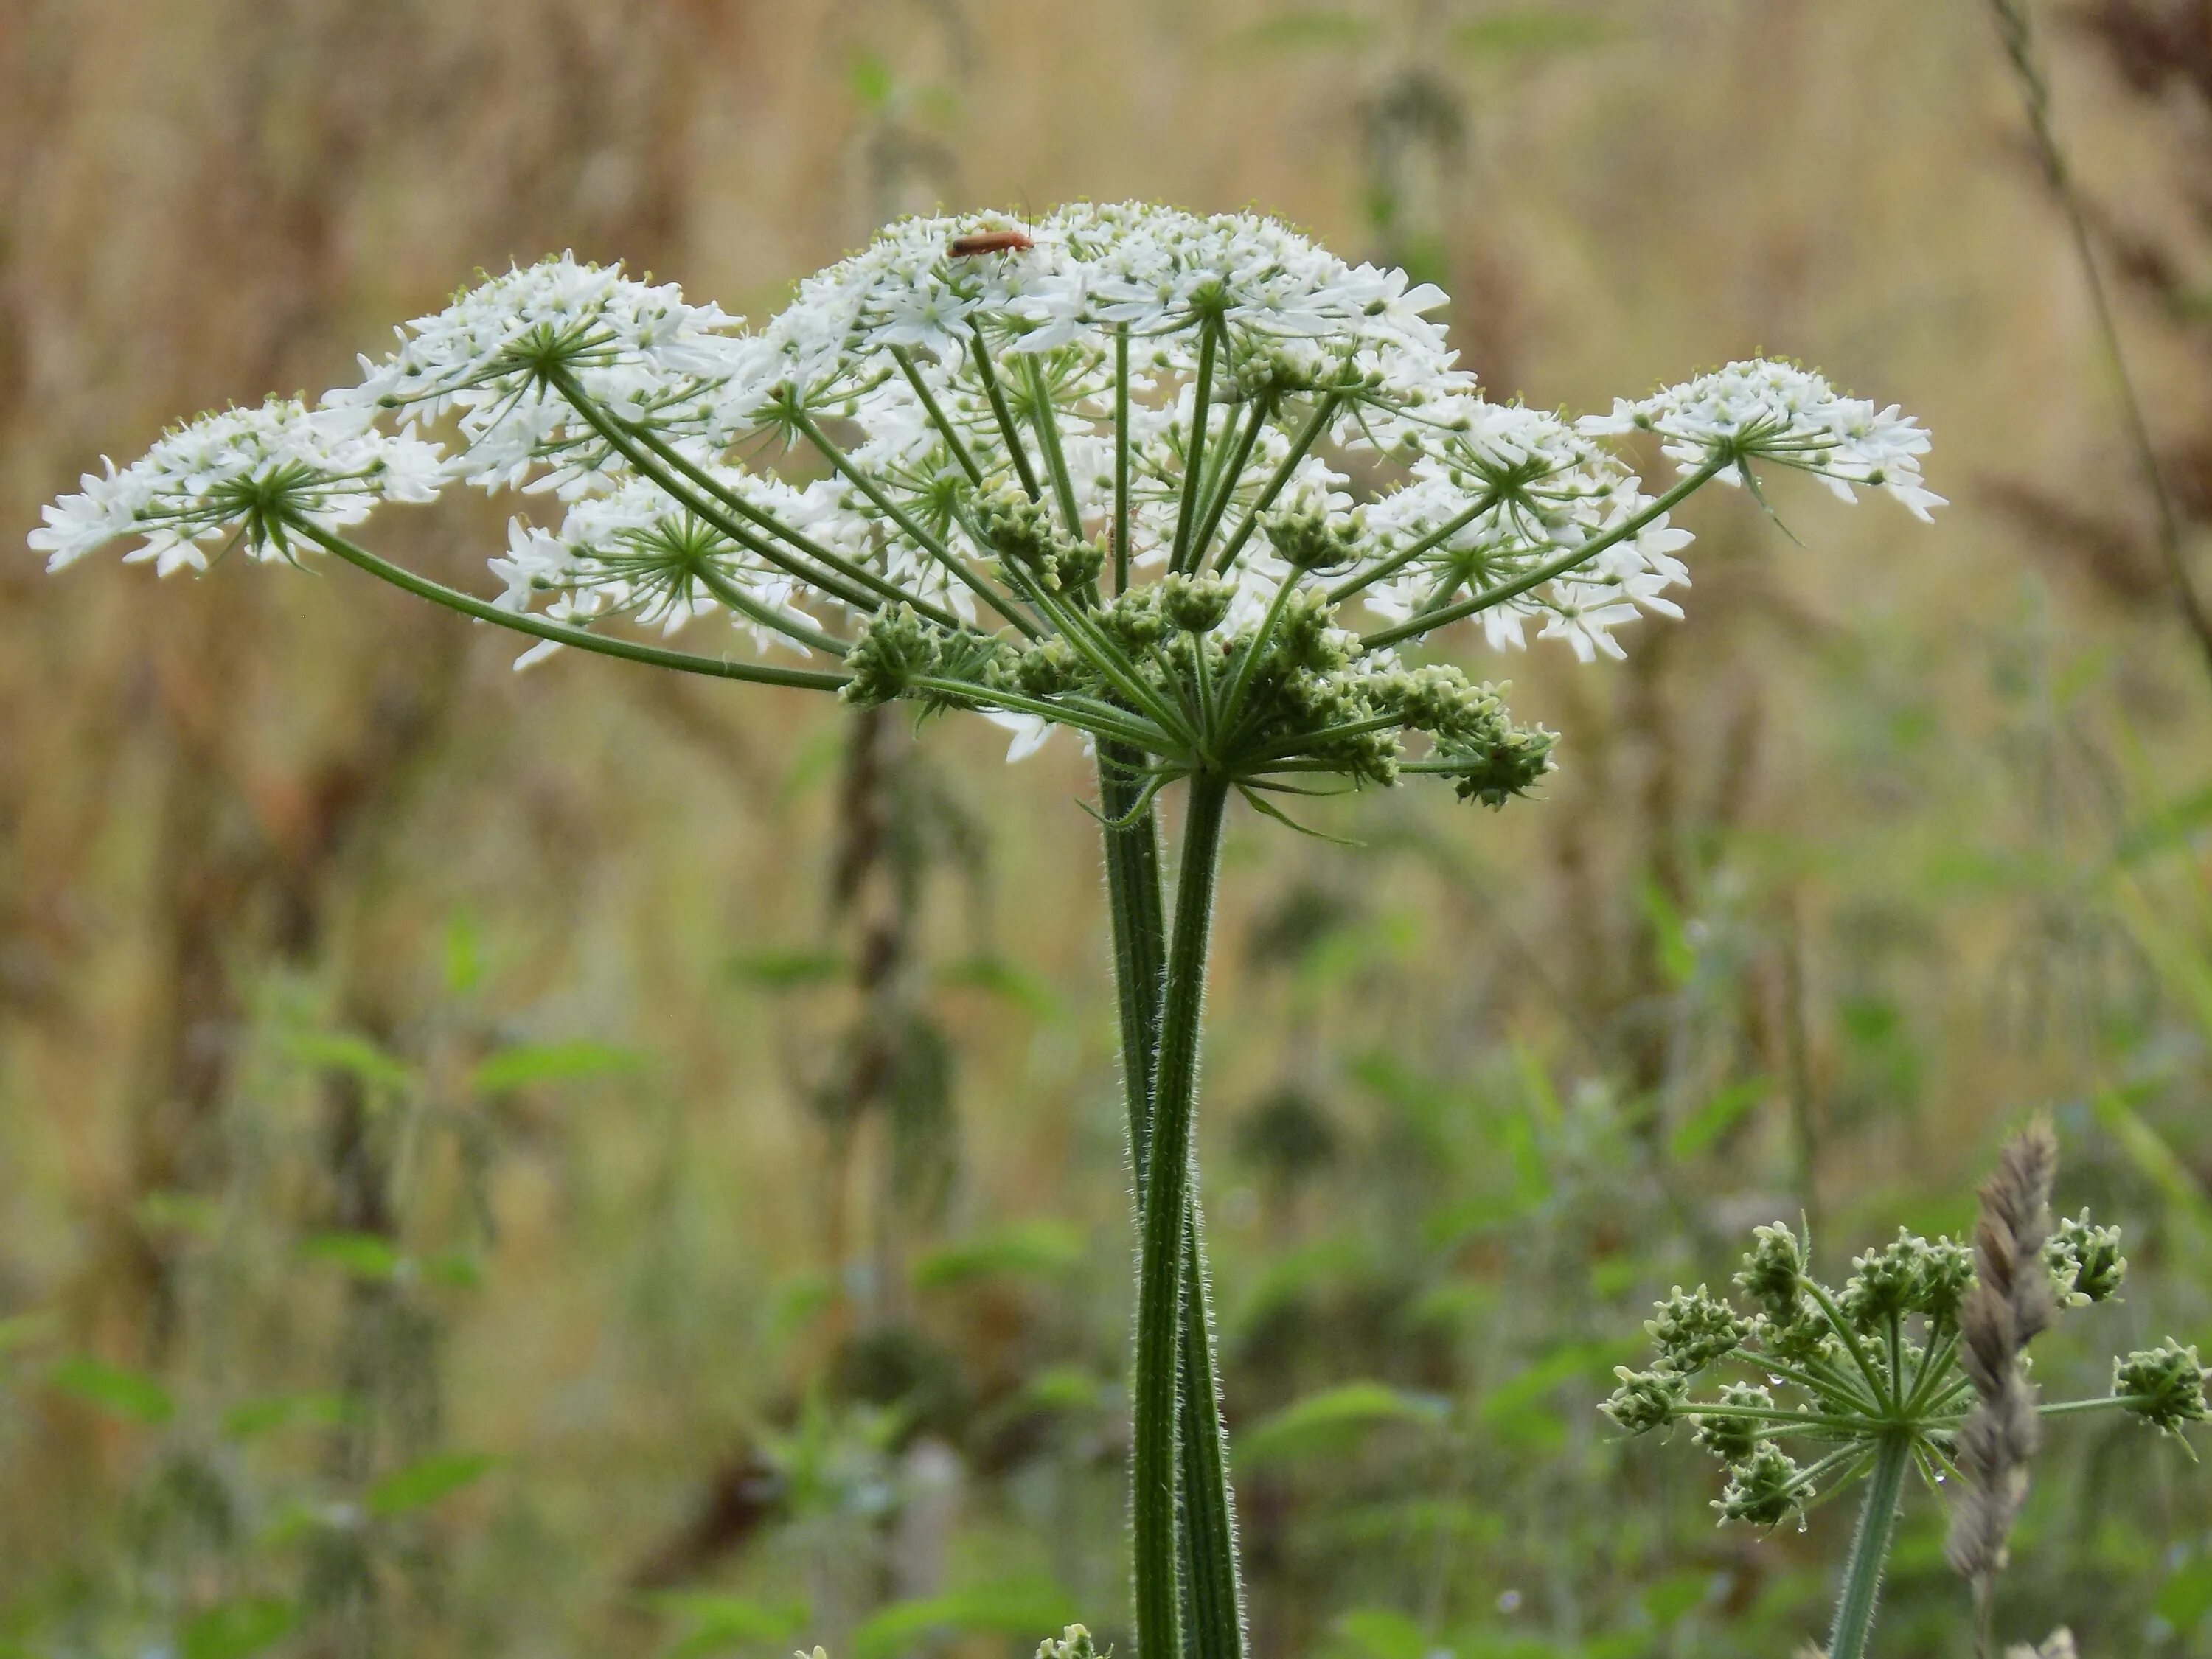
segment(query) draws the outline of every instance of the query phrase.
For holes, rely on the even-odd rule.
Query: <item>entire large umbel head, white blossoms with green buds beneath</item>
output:
[[[967,252],[978,232],[989,252]],[[1018,232],[1018,234],[1013,234]],[[571,254],[416,319],[310,409],[228,409],[86,478],[31,540],[168,573],[330,551],[535,635],[854,703],[1055,728],[1146,787],[1451,779],[1498,805],[1551,768],[1506,686],[1402,650],[1480,619],[1582,659],[1681,615],[1670,522],[1765,467],[1927,518],[1927,436],[1818,374],[1734,363],[1579,422],[1482,396],[1444,294],[1256,215],[1066,206],[905,219],[748,327]],[[1608,440],[1657,434],[1646,493]],[[385,564],[387,500],[515,489],[495,599]],[[739,650],[646,648],[717,615]],[[787,661],[779,661],[785,657]],[[805,666],[792,666],[805,661]]]

